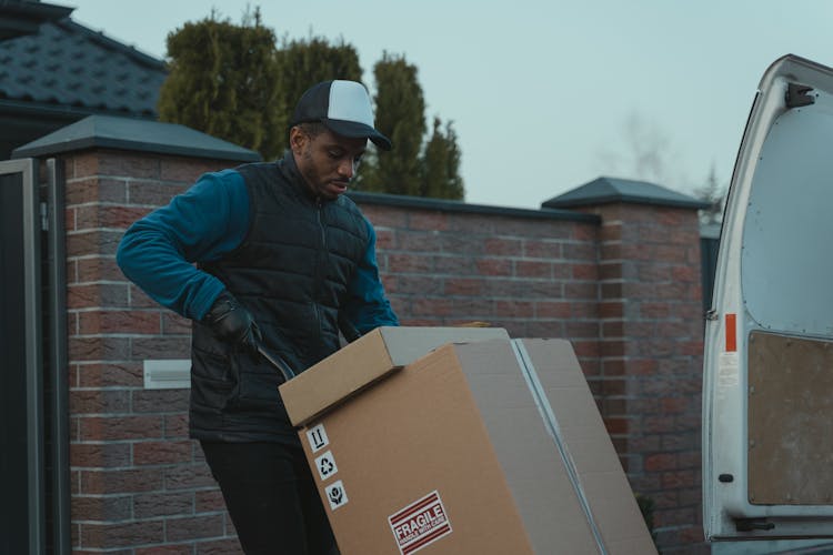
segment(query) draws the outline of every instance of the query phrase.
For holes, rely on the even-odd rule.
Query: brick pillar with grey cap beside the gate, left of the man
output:
[[[110,148],[90,148],[102,135]],[[189,391],[144,389],[143,361],[190,357],[190,322],[131,284],[116,250],[133,221],[201,173],[257,154],[179,125],[94,117],[19,155],[57,157],[66,173],[73,553],[239,553],[188,438]]]

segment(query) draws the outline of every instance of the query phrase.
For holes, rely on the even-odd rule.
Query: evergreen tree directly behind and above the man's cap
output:
[[[341,39],[330,44],[323,38],[307,40],[283,39],[281,50],[278,51],[278,67],[280,73],[279,104],[281,110],[281,148],[289,145],[289,119],[301,94],[321,81],[344,79],[361,81],[362,68],[359,54],[352,44]]]

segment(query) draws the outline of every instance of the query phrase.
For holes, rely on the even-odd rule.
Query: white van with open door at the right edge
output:
[[[833,69],[794,56],[761,80],[726,202],[703,525],[714,554],[833,553]]]

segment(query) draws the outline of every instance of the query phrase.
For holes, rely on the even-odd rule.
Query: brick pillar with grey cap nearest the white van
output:
[[[600,179],[545,205],[601,216],[594,391],[633,491],[654,502],[664,552],[702,542],[702,203]]]

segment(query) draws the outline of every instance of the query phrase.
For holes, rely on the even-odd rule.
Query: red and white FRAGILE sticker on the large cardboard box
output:
[[[389,516],[388,522],[402,555],[414,553],[452,532],[436,491]]]

